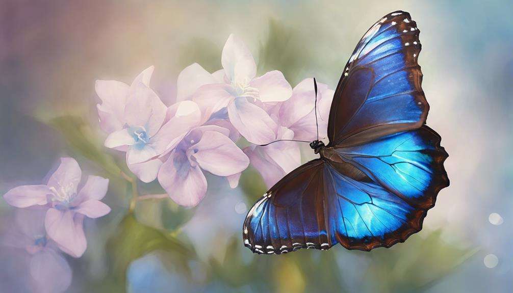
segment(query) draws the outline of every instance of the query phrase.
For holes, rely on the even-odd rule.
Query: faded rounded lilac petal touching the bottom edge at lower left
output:
[[[30,259],[30,276],[37,292],[64,292],[71,284],[71,267],[52,249],[43,249]]]

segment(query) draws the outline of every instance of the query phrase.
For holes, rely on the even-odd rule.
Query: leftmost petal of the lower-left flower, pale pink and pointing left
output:
[[[47,185],[22,185],[4,194],[4,199],[12,206],[28,207],[47,204],[46,196],[51,194]]]

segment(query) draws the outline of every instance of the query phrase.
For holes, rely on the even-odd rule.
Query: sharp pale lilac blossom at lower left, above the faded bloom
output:
[[[84,217],[98,218],[110,212],[110,207],[100,201],[107,193],[109,180],[89,176],[77,192],[81,177],[82,170],[75,159],[61,158],[47,184],[14,187],[4,195],[7,203],[15,207],[48,207],[46,233],[73,257],[81,257],[87,247]]]

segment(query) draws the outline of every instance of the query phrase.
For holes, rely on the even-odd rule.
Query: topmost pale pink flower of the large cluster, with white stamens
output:
[[[186,73],[182,72],[184,80],[186,77],[201,77],[201,82],[188,88],[179,82],[179,98],[196,101],[201,108],[203,122],[211,117],[226,116],[249,142],[264,144],[274,140],[279,125],[263,107],[290,98],[292,88],[283,74],[274,70],[255,77],[257,64],[243,41],[234,35],[226,41],[221,64],[223,70],[210,76],[196,65],[189,67]]]

